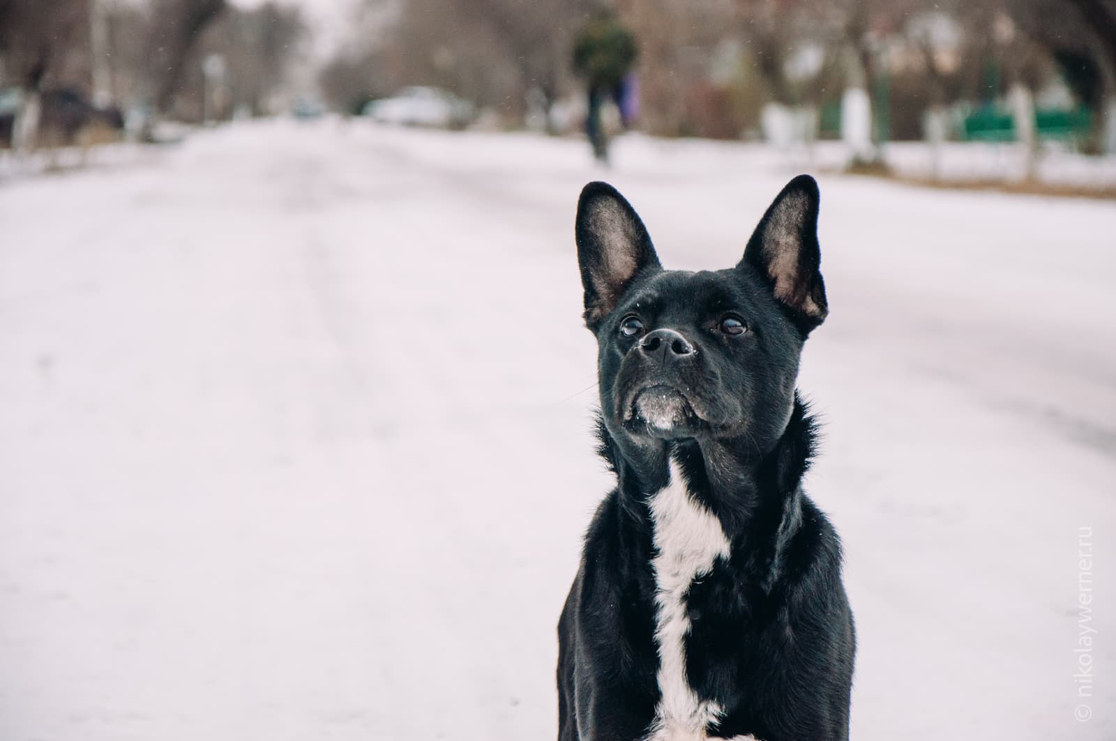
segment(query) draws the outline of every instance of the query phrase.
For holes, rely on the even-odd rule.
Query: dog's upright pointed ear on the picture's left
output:
[[[585,325],[596,331],[632,280],[661,268],[635,209],[608,183],[589,183],[577,202],[577,261],[585,288]]]

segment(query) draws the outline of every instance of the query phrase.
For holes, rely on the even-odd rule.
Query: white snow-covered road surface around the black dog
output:
[[[578,190],[617,184],[667,267],[724,267],[793,174],[587,150],[273,123],[0,185],[0,739],[552,738],[608,485]],[[801,387],[854,738],[1116,737],[1116,208],[821,192]]]

